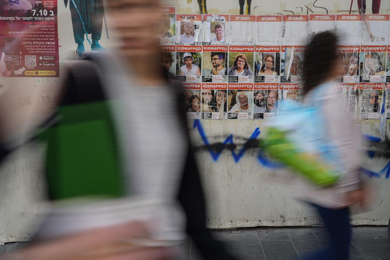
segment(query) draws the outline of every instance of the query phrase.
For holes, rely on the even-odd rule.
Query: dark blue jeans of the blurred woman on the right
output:
[[[333,210],[318,205],[314,207],[324,221],[331,244],[330,247],[317,251],[304,260],[349,260],[352,236],[349,208]]]

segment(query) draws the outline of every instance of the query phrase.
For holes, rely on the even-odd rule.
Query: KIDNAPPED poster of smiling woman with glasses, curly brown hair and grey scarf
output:
[[[229,82],[253,82],[254,46],[229,46]]]

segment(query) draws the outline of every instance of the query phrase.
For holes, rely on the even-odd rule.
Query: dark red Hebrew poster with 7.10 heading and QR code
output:
[[[1,2],[0,76],[59,77],[57,0]]]

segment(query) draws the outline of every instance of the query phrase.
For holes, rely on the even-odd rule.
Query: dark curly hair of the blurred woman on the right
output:
[[[310,39],[302,69],[305,94],[328,78],[337,57],[337,35],[335,33],[320,32]]]

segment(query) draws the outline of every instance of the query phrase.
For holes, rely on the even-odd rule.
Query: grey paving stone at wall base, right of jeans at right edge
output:
[[[389,245],[390,239],[382,232],[382,228],[353,228],[352,242],[358,245]]]

